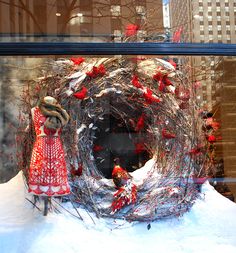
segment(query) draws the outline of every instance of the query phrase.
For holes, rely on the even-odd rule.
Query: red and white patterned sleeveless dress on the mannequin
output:
[[[36,132],[29,173],[29,192],[35,195],[61,196],[70,193],[61,129],[44,126],[46,117],[38,107],[32,109]]]

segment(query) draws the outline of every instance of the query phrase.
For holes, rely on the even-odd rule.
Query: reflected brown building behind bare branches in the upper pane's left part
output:
[[[70,35],[69,41],[109,41],[127,24],[140,26],[139,37],[163,33],[161,0],[2,1],[0,19],[0,33],[44,35],[45,40]]]

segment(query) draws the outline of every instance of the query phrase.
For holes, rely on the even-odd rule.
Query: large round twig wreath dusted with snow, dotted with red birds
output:
[[[24,111],[45,95],[56,97],[70,114],[63,141],[72,187],[70,198],[98,217],[150,221],[179,216],[199,195],[195,178],[206,174],[202,120],[194,86],[173,61],[158,58],[71,58],[46,64],[47,75],[32,81],[24,93]],[[37,92],[35,92],[37,91]],[[26,97],[28,99],[26,99]],[[113,212],[116,188],[98,169],[96,133],[112,116],[128,132],[135,152],[150,160],[132,172],[137,185],[135,203]],[[33,132],[27,134],[28,142]],[[30,148],[23,147],[21,163],[27,177]],[[27,155],[28,152],[28,155]],[[26,159],[27,157],[27,159]]]

